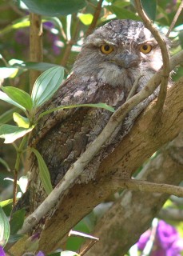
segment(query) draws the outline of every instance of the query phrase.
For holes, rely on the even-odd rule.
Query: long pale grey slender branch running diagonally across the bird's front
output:
[[[173,68],[181,62],[182,58],[183,51],[175,54],[170,59],[170,69],[173,70]],[[30,216],[26,218],[22,229],[18,232],[19,234],[26,234],[26,232],[34,227],[42,216],[44,216],[55,205],[55,203],[58,202],[58,198],[60,198],[62,193],[68,190],[70,186],[72,186],[75,179],[82,174],[83,169],[87,166],[93,156],[97,154],[98,150],[100,150],[101,146],[109,139],[111,134],[113,134],[113,131],[122,121],[122,119],[125,118],[125,115],[129,112],[129,110],[132,110],[134,106],[153,93],[158,86],[158,83],[161,81],[161,74],[162,71],[157,72],[157,74],[155,74],[153,78],[149,80],[147,86],[145,86],[143,90],[134,95],[132,98],[129,98],[129,100],[111,116],[101,134],[90,144],[82,156],[78,158],[78,160],[74,162],[72,166],[70,166],[70,169],[66,172],[65,177],[62,178],[62,180],[58,183],[58,186],[54,188],[54,190],[49,194],[44,202],[38,206],[34,213],[30,214]]]

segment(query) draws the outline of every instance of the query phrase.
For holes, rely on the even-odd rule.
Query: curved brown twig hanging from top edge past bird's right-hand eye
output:
[[[169,82],[169,54],[168,54],[168,50],[166,48],[165,41],[163,40],[163,38],[161,38],[161,35],[157,31],[157,29],[153,27],[152,22],[149,20],[149,18],[145,14],[144,10],[142,9],[141,1],[134,0],[134,2],[135,2],[136,9],[137,9],[137,13],[139,14],[141,19],[145,23],[145,26],[153,34],[154,38],[157,40],[157,43],[161,49],[163,67],[162,67],[162,76],[161,76],[161,87],[160,87],[160,92],[159,92],[158,98],[157,98],[157,112],[159,112],[162,110],[162,107],[164,105],[165,98],[166,98],[167,85]],[[161,115],[159,114],[158,116],[161,116]]]

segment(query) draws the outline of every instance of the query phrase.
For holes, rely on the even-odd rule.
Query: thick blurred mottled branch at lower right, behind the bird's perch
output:
[[[137,178],[178,185],[183,178],[183,134],[161,149]],[[125,190],[96,226],[100,238],[86,254],[123,255],[150,226],[169,196]]]

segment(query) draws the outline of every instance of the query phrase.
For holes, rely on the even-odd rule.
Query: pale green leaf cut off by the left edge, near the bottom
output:
[[[5,246],[10,237],[10,224],[6,214],[0,207],[0,246]]]

